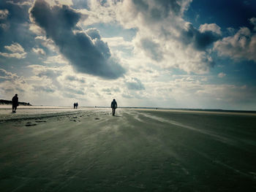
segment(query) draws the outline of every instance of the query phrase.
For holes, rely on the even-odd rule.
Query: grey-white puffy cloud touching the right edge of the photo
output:
[[[218,55],[229,56],[234,60],[246,59],[256,62],[256,33],[242,27],[233,36],[214,43]]]

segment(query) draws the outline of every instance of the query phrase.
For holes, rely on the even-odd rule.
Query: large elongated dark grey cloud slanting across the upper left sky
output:
[[[111,57],[105,42],[101,39],[92,41],[83,31],[73,31],[80,19],[80,14],[75,10],[65,5],[50,7],[44,0],[37,0],[30,13],[76,71],[106,79],[116,79],[125,73],[118,61]]]

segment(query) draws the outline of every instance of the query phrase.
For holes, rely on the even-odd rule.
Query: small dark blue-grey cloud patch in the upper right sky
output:
[[[221,38],[219,34],[212,31],[204,31],[203,33],[189,23],[187,30],[181,31],[181,42],[185,45],[193,45],[197,50],[206,50],[209,45]]]

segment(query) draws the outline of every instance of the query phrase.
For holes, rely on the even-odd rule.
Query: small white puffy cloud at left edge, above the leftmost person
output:
[[[24,51],[23,47],[18,44],[17,42],[13,43],[10,46],[4,46],[6,50],[9,50],[11,53],[1,53],[1,56],[6,58],[26,58],[26,52]]]

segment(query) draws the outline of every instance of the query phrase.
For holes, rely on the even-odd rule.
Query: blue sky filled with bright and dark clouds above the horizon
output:
[[[256,110],[255,0],[1,0],[0,99]]]

